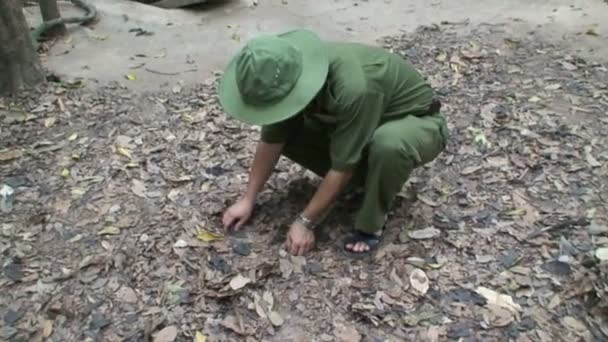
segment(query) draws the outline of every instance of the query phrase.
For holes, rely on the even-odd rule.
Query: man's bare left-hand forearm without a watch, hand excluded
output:
[[[279,161],[284,145],[284,143],[269,144],[263,141],[258,143],[249,173],[249,183],[243,196],[245,200],[255,202],[258,193],[262,191]]]

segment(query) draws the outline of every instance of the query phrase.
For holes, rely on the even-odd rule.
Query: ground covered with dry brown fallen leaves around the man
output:
[[[608,339],[605,56],[488,23],[380,41],[428,77],[451,137],[367,261],[338,249],[356,197],[309,255],[282,250],[319,182],[288,160],[246,229],[220,229],[259,132],[222,113],[214,79],[1,99],[0,338]]]

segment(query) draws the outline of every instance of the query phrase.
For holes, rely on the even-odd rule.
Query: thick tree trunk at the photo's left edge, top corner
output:
[[[0,0],[0,93],[45,81],[20,0]]]

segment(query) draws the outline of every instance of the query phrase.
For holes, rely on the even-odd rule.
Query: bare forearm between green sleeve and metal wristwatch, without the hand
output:
[[[302,215],[312,221],[320,219],[351,177],[352,171],[329,170]]]

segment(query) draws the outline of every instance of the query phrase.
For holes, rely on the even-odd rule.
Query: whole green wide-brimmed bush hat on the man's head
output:
[[[286,120],[314,99],[328,67],[325,44],[312,31],[258,36],[224,70],[220,104],[230,116],[252,125]]]

